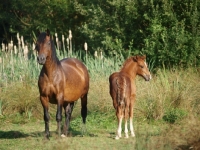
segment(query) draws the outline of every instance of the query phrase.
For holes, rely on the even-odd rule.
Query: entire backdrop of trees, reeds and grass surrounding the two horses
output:
[[[0,149],[199,149],[199,8],[198,0],[0,0]],[[34,51],[46,28],[58,57],[77,57],[90,73],[87,132],[78,101],[69,138],[58,138],[51,105],[50,142]],[[153,79],[136,79],[136,138],[115,141],[108,77],[136,54],[147,55]]]

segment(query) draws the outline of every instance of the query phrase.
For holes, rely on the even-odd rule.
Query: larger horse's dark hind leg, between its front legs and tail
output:
[[[65,124],[64,124],[62,137],[65,137],[68,134],[73,107],[74,107],[74,102],[66,103],[64,105],[64,109],[65,109]]]

